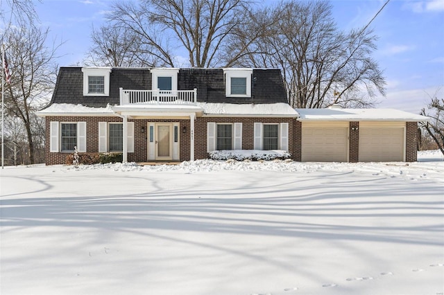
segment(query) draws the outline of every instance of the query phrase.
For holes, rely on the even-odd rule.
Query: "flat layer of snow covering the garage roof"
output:
[[[420,122],[429,120],[426,116],[399,111],[398,109],[295,109],[298,120],[400,120]]]

